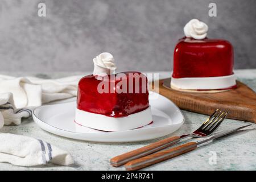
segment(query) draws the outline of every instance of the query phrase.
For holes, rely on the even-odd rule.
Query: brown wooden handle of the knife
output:
[[[125,164],[126,170],[133,171],[138,170],[147,166],[151,166],[152,164],[156,164],[162,162],[167,159],[174,158],[175,156],[184,154],[186,152],[195,150],[197,147],[196,142],[189,142],[182,144],[181,146],[177,146],[174,148],[170,148],[168,150],[159,151],[155,154],[144,156],[143,158],[135,159]]]

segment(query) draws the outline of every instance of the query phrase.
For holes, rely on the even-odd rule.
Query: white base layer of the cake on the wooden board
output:
[[[171,77],[171,88],[184,90],[217,90],[228,89],[236,85],[236,76],[217,76],[217,77],[192,77],[192,78],[173,78]]]

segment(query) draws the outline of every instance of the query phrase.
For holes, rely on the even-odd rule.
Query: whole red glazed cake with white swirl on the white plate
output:
[[[79,81],[76,122],[104,131],[135,129],[151,123],[147,77],[140,72],[114,74],[110,53],[101,53],[93,61],[93,75]]]

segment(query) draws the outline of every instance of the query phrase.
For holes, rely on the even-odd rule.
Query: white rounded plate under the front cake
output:
[[[183,114],[174,103],[160,94],[153,95],[150,94],[150,105],[154,122],[139,129],[105,132],[77,125],[74,122],[75,101],[36,107],[33,111],[33,119],[43,130],[67,138],[93,142],[149,140],[173,133],[184,122]]]

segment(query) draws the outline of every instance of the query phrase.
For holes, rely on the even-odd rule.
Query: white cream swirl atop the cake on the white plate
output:
[[[115,60],[111,53],[103,52],[100,55],[94,57],[94,70],[93,75],[112,74],[117,67],[115,66]]]

